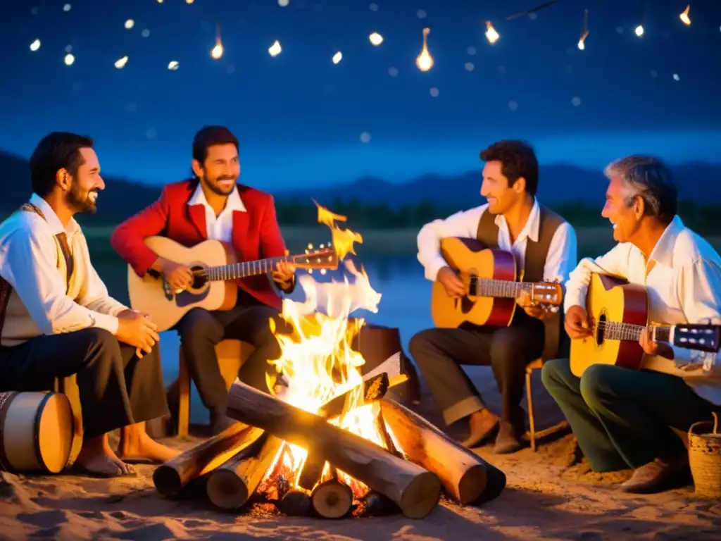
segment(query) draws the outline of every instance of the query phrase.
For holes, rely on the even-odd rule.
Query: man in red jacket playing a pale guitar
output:
[[[160,258],[146,246],[147,237],[159,234],[185,246],[205,239],[229,242],[243,261],[285,255],[273,196],[237,183],[238,140],[231,131],[222,126],[205,126],[198,131],[193,140],[192,165],[193,179],[166,185],[158,201],[124,221],[112,234],[112,247],[138,276],[160,274],[176,290],[192,283],[187,266]],[[280,291],[293,291],[293,265],[279,263],[273,281]],[[215,346],[226,338],[252,344],[255,351],[238,377],[264,392],[268,392],[267,360],[280,356],[278,340],[268,322],[273,317],[279,328],[284,326],[278,317],[282,307],[278,291],[266,276],[244,278],[237,284],[234,308],[208,312],[196,307],[174,327],[180,334],[190,377],[203,405],[210,410],[215,434],[233,422],[224,415],[227,392]]]

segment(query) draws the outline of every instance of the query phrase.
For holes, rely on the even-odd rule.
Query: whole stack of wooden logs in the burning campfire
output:
[[[288,479],[276,482],[275,504],[289,515],[348,516],[353,510],[353,491],[337,470],[368,487],[358,507],[365,515],[399,509],[409,518],[421,519],[440,501],[441,488],[463,504],[500,495],[505,488],[503,472],[420,415],[382,398],[387,382],[384,374],[383,392],[363,393],[380,404],[378,423],[387,449],[328,423],[324,416],[236,382],[229,392],[226,415],[240,423],[159,467],[154,475],[156,488],[164,496],[177,496],[190,480],[204,477],[214,505],[239,509],[260,485],[266,485],[265,478],[283,470],[283,457],[278,455],[286,441],[308,452],[303,469],[293,479],[286,475]],[[336,405],[340,402],[342,411],[335,406],[322,411],[346,413],[348,400],[335,400]],[[330,475],[322,477],[326,462]],[[298,485],[291,486],[296,474]]]

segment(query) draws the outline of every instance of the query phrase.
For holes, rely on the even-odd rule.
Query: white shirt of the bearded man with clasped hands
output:
[[[79,224],[71,219],[66,229],[43,198],[32,194],[30,202],[40,208],[45,219],[35,212],[18,211],[0,224],[0,276],[13,289],[3,345],[86,327],[115,334],[119,323],[116,316],[127,307],[108,295],[90,263],[87,240]],[[66,276],[57,267],[55,235],[61,232],[66,232],[74,256],[72,288],[67,294]],[[11,305],[25,307],[30,317],[11,314]],[[15,320],[10,320],[13,317]]]

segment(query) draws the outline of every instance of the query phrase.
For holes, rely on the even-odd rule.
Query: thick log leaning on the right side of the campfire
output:
[[[495,493],[495,498],[503,491],[503,472],[461,447],[417,413],[384,398],[381,416],[403,454],[438,475],[446,491],[460,503],[478,501],[484,493]],[[498,473],[504,480],[500,490]]]

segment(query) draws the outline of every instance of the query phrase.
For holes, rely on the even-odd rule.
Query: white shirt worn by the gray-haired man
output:
[[[595,260],[580,260],[566,284],[565,309],[574,304],[585,307],[591,273],[606,273],[646,287],[649,322],[705,323],[720,317],[721,257],[705,239],[686,228],[678,216],[668,224],[648,260],[655,263],[646,276],[647,261],[630,242],[616,245]],[[673,356],[681,363],[691,361],[695,354],[687,348],[673,348]],[[668,362],[658,356],[647,356],[644,360],[649,368]],[[688,372],[684,380],[697,395],[721,405],[720,364],[710,373]]]

